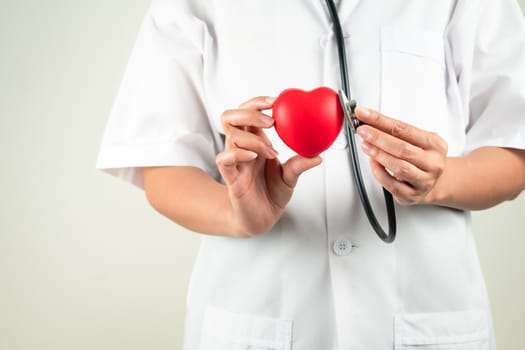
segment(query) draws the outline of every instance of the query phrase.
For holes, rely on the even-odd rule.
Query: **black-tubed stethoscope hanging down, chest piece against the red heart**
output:
[[[328,10],[330,12],[330,17],[334,24],[334,34],[337,41],[337,51],[339,56],[339,70],[341,73],[341,85],[342,89],[339,90],[339,100],[345,114],[345,123],[344,128],[346,131],[346,139],[350,147],[349,159],[352,164],[352,171],[354,173],[354,181],[361,199],[361,204],[365,210],[366,216],[372,228],[377,233],[379,238],[381,238],[385,243],[392,243],[396,238],[396,212],[394,208],[394,199],[392,194],[383,188],[383,194],[385,197],[385,204],[388,216],[388,234],[385,233],[381,225],[376,219],[374,210],[370,205],[370,200],[368,199],[368,194],[366,192],[365,183],[363,181],[363,176],[361,175],[361,167],[359,165],[359,157],[357,153],[357,146],[355,143],[355,132],[357,127],[361,125],[359,119],[355,115],[355,108],[357,103],[355,100],[352,100],[350,94],[350,84],[348,79],[348,69],[346,64],[346,50],[345,43],[343,38],[343,29],[341,28],[341,22],[339,21],[339,16],[337,14],[337,9],[335,7],[333,0],[326,0],[328,5]]]

